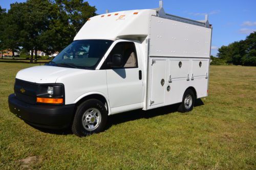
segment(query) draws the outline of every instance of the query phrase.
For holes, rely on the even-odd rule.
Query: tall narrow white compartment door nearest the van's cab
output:
[[[150,105],[158,105],[164,103],[165,89],[165,70],[166,60],[153,60],[151,74],[151,101]]]

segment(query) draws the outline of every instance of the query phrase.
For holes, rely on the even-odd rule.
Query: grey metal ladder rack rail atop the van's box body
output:
[[[172,20],[176,20],[176,21],[180,21],[180,22],[190,23],[190,24],[193,24],[196,26],[210,28],[208,15],[205,15],[204,20],[193,20],[193,19],[183,18],[180,16],[172,15],[172,14],[167,14],[164,12],[162,0],[159,1],[159,8],[156,8],[154,10],[157,11],[157,16],[159,16],[161,18],[172,19]]]

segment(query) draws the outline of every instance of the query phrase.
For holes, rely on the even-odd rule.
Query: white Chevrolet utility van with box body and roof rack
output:
[[[44,66],[20,70],[9,108],[25,122],[78,136],[104,130],[108,115],[208,95],[212,27],[162,8],[90,18],[74,41]]]

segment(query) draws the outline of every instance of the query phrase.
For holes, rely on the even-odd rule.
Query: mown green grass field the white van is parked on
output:
[[[256,67],[211,66],[209,97],[190,113],[122,113],[78,138],[10,113],[16,72],[30,66],[0,63],[0,169],[256,169]]]

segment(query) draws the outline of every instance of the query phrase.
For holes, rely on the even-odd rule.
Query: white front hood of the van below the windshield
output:
[[[61,76],[86,71],[89,70],[41,65],[18,71],[16,79],[33,83],[56,83]]]

